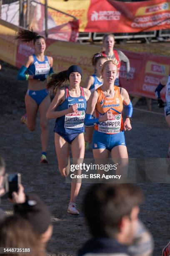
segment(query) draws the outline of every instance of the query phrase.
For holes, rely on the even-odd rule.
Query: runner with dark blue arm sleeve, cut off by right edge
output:
[[[165,93],[166,104],[163,102],[163,100],[160,97],[160,91],[163,89],[164,86],[165,86],[165,90],[166,90],[166,93]],[[168,125],[170,126],[170,75],[167,77],[163,77],[160,80],[160,83],[156,87],[155,95],[158,100],[158,107],[159,108],[165,107],[164,108],[165,120],[168,123]],[[170,161],[170,143],[168,146],[167,161]]]

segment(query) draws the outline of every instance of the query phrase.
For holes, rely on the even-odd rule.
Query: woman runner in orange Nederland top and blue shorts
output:
[[[106,61],[102,66],[103,84],[95,90],[88,101],[85,125],[95,124],[93,134],[93,156],[95,159],[119,159],[119,168],[127,174],[128,152],[124,131],[131,130],[132,103],[128,92],[114,86],[117,77],[117,60]],[[126,106],[126,119],[123,124],[122,110]],[[95,110],[96,118],[92,119]],[[123,131],[124,130],[124,131]],[[122,160],[121,160],[122,159]]]

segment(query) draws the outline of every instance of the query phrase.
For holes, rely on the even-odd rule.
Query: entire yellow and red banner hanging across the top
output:
[[[56,5],[57,2],[57,5]],[[119,2],[115,0],[48,0],[48,5],[75,16],[80,32],[138,33],[170,29],[170,0]],[[60,23],[65,15],[53,19]]]

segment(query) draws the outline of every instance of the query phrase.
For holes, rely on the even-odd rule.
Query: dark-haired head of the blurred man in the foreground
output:
[[[133,241],[143,193],[133,184],[94,184],[83,202],[90,232],[97,237]]]

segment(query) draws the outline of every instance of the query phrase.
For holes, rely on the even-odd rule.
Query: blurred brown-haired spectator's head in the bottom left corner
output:
[[[40,237],[34,232],[30,223],[19,216],[8,216],[0,223],[0,247],[30,248],[29,256],[45,256]],[[14,255],[25,256],[25,252]]]

